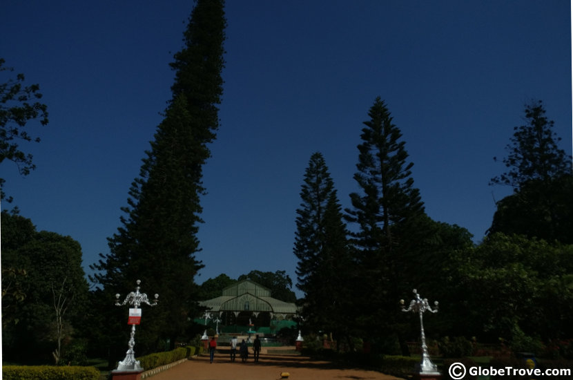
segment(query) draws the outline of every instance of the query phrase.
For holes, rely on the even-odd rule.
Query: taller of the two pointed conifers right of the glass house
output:
[[[407,276],[404,243],[407,227],[424,215],[420,192],[411,178],[413,163],[407,162],[402,133],[393,124],[380,97],[369,111],[362,129],[358,172],[354,179],[362,189],[351,193],[347,220],[356,223],[353,243],[357,247],[360,283],[355,287],[360,303],[358,319],[364,331],[384,329],[396,321],[398,281]]]

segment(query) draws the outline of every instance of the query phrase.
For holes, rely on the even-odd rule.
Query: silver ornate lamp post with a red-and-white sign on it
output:
[[[124,302],[119,303],[119,294],[115,294],[115,298],[117,298],[117,301],[115,301],[116,306],[123,306],[126,305],[126,303],[132,306],[129,309],[130,318],[128,320],[128,324],[131,325],[131,334],[128,341],[129,349],[126,352],[125,359],[119,362],[117,371],[143,370],[142,366],[139,365],[139,361],[135,360],[135,351],[133,351],[133,347],[135,346],[135,325],[139,325],[139,320],[142,316],[142,311],[139,309],[139,305],[145,303],[146,305],[155,306],[157,305],[157,298],[159,298],[159,294],[155,294],[153,303],[150,303],[147,298],[147,294],[139,292],[139,284],[142,283],[142,281],[137,280],[136,283],[137,287],[135,287],[135,292],[130,292],[130,294],[126,296],[126,299],[124,299]]]

